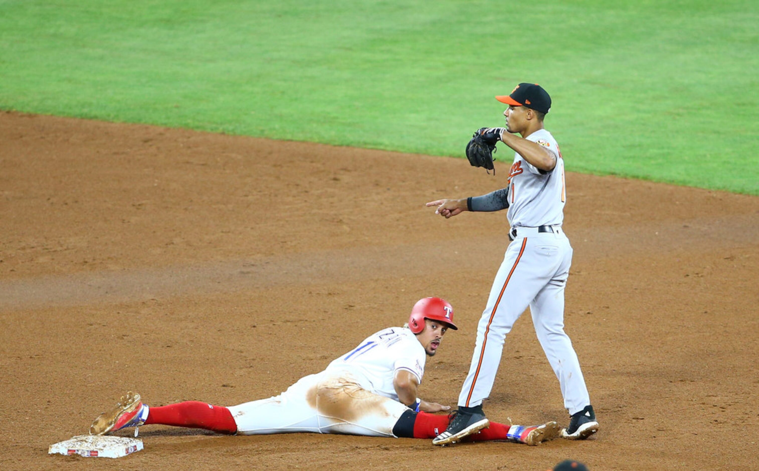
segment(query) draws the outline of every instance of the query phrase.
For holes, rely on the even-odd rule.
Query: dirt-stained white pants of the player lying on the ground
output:
[[[344,372],[308,375],[279,396],[228,407],[238,434],[292,432],[394,437],[392,428],[408,410],[373,394]]]

